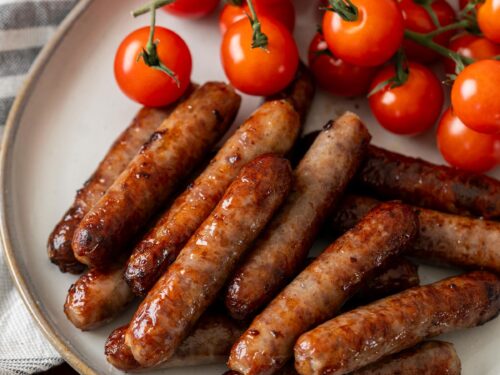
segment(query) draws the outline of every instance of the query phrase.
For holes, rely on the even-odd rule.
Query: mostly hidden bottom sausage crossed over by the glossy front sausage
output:
[[[123,371],[138,370],[141,365],[134,359],[125,345],[128,325],[115,329],[105,345],[106,359]],[[243,326],[220,312],[206,312],[182,342],[172,358],[161,368],[198,366],[223,363],[229,355],[231,345],[243,333]]]

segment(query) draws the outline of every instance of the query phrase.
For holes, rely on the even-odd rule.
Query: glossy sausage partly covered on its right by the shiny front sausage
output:
[[[245,121],[135,246],[125,272],[134,293],[153,287],[246,163],[265,153],[287,153],[299,131],[297,112],[283,100],[264,103]]]

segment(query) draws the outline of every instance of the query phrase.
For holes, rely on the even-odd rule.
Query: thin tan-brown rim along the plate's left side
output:
[[[62,358],[69,365],[71,365],[71,367],[73,367],[73,369],[84,375],[97,375],[97,373],[92,370],[92,368],[89,367],[81,358],[79,358],[79,356],[70,349],[59,333],[52,328],[42,309],[37,304],[36,298],[33,295],[33,291],[31,290],[25,276],[21,272],[19,262],[15,255],[15,249],[12,244],[12,236],[7,224],[11,215],[8,211],[6,202],[9,193],[7,189],[8,171],[10,171],[11,168],[12,152],[16,134],[27,101],[31,97],[31,93],[40,74],[43,73],[43,70],[49,63],[57,48],[60,46],[64,37],[93,1],[94,0],[79,0],[61,22],[54,35],[42,48],[39,55],[35,59],[7,117],[0,150],[0,240],[7,268],[9,269],[9,273],[17,291],[21,295],[24,305],[28,308],[30,315],[38,324],[42,334],[49,340]]]

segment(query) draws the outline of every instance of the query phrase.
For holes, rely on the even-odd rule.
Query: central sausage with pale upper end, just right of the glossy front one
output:
[[[233,318],[252,316],[300,271],[369,141],[368,130],[353,113],[324,127],[294,171],[286,203],[229,281],[226,307]]]

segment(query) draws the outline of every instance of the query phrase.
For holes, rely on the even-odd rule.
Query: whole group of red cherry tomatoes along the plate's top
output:
[[[200,17],[218,3],[176,0],[163,9]],[[443,157],[462,169],[487,171],[500,163],[500,1],[470,3],[460,0],[465,9],[457,14],[446,0],[320,0],[311,5],[325,11],[309,46],[309,66],[318,84],[335,95],[368,95],[374,116],[393,133],[419,134],[439,122]],[[299,63],[294,24],[291,0],[228,1],[219,26],[229,81],[251,95],[285,88]],[[132,99],[161,106],[189,85],[191,56],[177,34],[156,27],[159,61],[174,79],[136,63],[151,41],[149,31],[136,30],[123,41],[115,74]],[[441,62],[453,83],[443,84],[434,73]],[[451,107],[441,115],[449,85]]]

